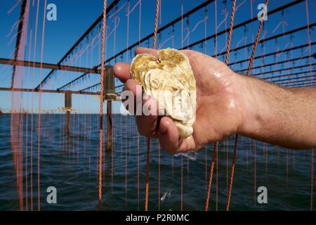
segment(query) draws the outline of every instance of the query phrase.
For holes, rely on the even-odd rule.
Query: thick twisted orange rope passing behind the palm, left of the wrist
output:
[[[236,0],[234,0],[232,4],[232,15],[230,17],[230,32],[228,36],[228,44],[226,49],[226,60],[225,64],[228,65],[228,58],[230,56],[230,43],[232,40],[232,28],[234,27],[234,18],[235,18],[235,11],[236,11]],[[213,147],[213,156],[212,156],[212,162],[210,166],[210,174],[209,174],[209,186],[207,189],[207,196],[206,196],[206,203],[205,203],[205,211],[209,210],[209,195],[211,193],[211,185],[212,185],[212,179],[213,179],[213,170],[214,170],[214,160],[217,158],[217,143],[214,143]]]

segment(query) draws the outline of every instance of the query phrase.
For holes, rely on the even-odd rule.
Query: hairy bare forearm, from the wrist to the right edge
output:
[[[245,109],[239,134],[286,148],[316,146],[316,89],[287,89],[252,77],[238,79]]]

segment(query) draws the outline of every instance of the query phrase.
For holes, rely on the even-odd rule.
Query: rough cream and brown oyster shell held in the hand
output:
[[[176,49],[162,49],[159,59],[151,54],[138,54],[131,63],[131,77],[145,95],[159,103],[159,115],[171,117],[180,138],[193,133],[197,108],[195,76],[187,56]]]

